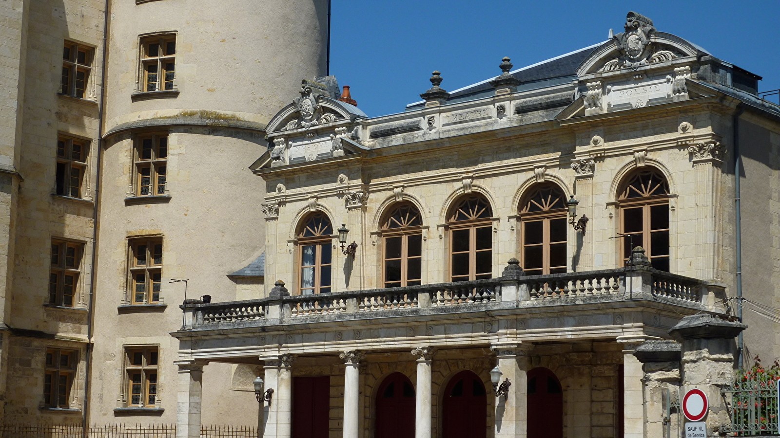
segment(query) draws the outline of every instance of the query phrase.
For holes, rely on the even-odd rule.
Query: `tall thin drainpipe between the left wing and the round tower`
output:
[[[105,70],[106,59],[108,57],[108,15],[110,13],[110,0],[105,0],[105,19],[103,22],[103,57],[101,59],[101,83],[100,83],[100,106],[97,112],[97,171],[95,173],[94,183],[94,208],[92,210],[92,217],[94,218],[94,226],[92,227],[92,269],[90,270],[90,299],[87,306],[87,352],[84,357],[84,362],[87,364],[87,368],[84,370],[84,397],[81,412],[81,421],[83,424],[82,438],[87,438],[87,425],[89,424],[89,394],[90,394],[90,370],[92,368],[92,331],[93,331],[93,319],[94,312],[92,310],[94,306],[94,291],[95,291],[95,270],[97,270],[97,231],[100,224],[98,213],[98,205],[100,204],[101,189],[100,189],[100,176],[101,176],[101,157],[103,152],[103,118],[105,118]]]

